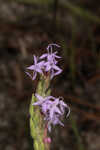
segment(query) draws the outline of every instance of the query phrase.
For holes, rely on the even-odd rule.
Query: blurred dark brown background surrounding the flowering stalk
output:
[[[63,72],[52,95],[71,108],[51,150],[100,150],[100,1],[0,0],[0,150],[32,150],[29,104],[38,81],[25,74],[50,43]]]

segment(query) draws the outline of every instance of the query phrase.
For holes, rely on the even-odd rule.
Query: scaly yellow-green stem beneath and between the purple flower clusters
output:
[[[48,91],[45,94],[45,90],[49,85],[49,79],[41,77],[38,86],[37,86],[37,91],[41,96],[47,96],[50,91]],[[32,104],[36,102],[36,97],[34,94],[32,95],[32,100],[30,104],[30,134],[33,138],[33,146],[34,150],[49,150],[49,144],[44,143],[44,138],[47,137],[47,130],[46,130],[46,125],[43,119],[43,115],[40,112],[40,109],[38,107],[34,107]]]

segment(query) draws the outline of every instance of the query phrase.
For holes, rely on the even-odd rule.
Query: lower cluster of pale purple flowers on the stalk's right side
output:
[[[65,113],[65,109],[68,110],[67,117],[70,114],[70,108],[63,102],[63,98],[55,98],[53,96],[42,97],[35,94],[37,102],[33,103],[34,106],[39,106],[44,114],[44,120],[47,121],[48,130],[51,131],[51,125],[64,124],[60,121],[61,117]]]

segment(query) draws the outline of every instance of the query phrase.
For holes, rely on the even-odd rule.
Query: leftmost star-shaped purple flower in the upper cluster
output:
[[[28,70],[33,71],[33,76],[26,72],[27,75],[31,77],[32,80],[35,80],[37,76],[37,72],[40,74],[43,74],[43,68],[44,68],[44,61],[38,62],[37,57],[34,55],[34,65],[31,65],[30,67],[27,67]]]

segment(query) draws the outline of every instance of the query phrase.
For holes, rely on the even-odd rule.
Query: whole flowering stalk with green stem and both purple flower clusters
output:
[[[52,126],[60,124],[61,118],[67,109],[67,117],[70,113],[70,108],[64,103],[62,97],[51,96],[49,89],[51,79],[60,74],[58,59],[61,57],[57,52],[53,52],[53,46],[59,47],[57,44],[49,44],[47,53],[40,57],[34,55],[34,64],[27,67],[32,71],[32,75],[26,72],[27,75],[35,80],[37,74],[40,74],[40,81],[37,86],[36,93],[32,95],[30,104],[30,133],[33,138],[34,150],[49,150],[51,138],[48,133],[51,132]]]

